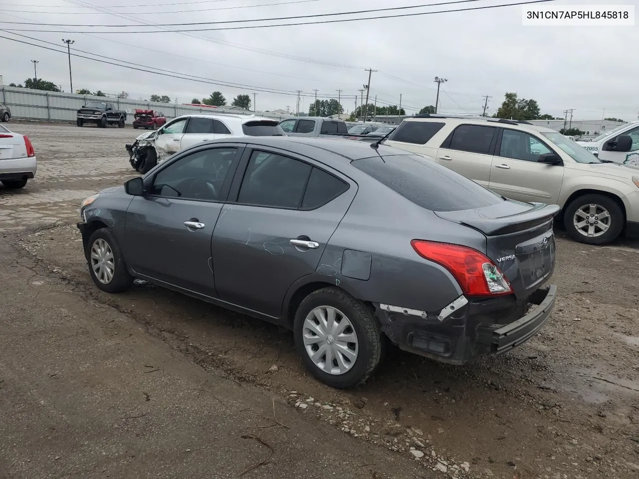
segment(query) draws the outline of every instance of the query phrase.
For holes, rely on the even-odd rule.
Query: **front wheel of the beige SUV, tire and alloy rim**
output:
[[[624,212],[606,195],[583,195],[567,206],[564,226],[575,241],[603,245],[619,236],[624,227]]]

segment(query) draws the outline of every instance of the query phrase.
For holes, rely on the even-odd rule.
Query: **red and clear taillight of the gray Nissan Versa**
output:
[[[512,293],[504,273],[486,255],[473,248],[422,239],[413,239],[410,244],[421,257],[449,270],[468,296]]]

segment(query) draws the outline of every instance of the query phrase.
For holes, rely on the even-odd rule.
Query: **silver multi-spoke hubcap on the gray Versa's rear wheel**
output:
[[[315,308],[304,320],[302,335],[306,353],[324,372],[344,374],[355,365],[359,351],[357,334],[340,310],[330,306]]]

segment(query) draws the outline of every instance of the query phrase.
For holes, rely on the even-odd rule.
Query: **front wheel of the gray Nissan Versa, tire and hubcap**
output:
[[[89,273],[93,282],[107,293],[127,291],[133,284],[113,233],[102,228],[91,234],[87,247]]]

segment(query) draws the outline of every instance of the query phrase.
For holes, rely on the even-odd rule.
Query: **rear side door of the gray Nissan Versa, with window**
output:
[[[321,266],[357,186],[318,166],[274,150],[250,153],[236,202],[229,197],[213,231],[221,300],[279,317],[289,287]]]

